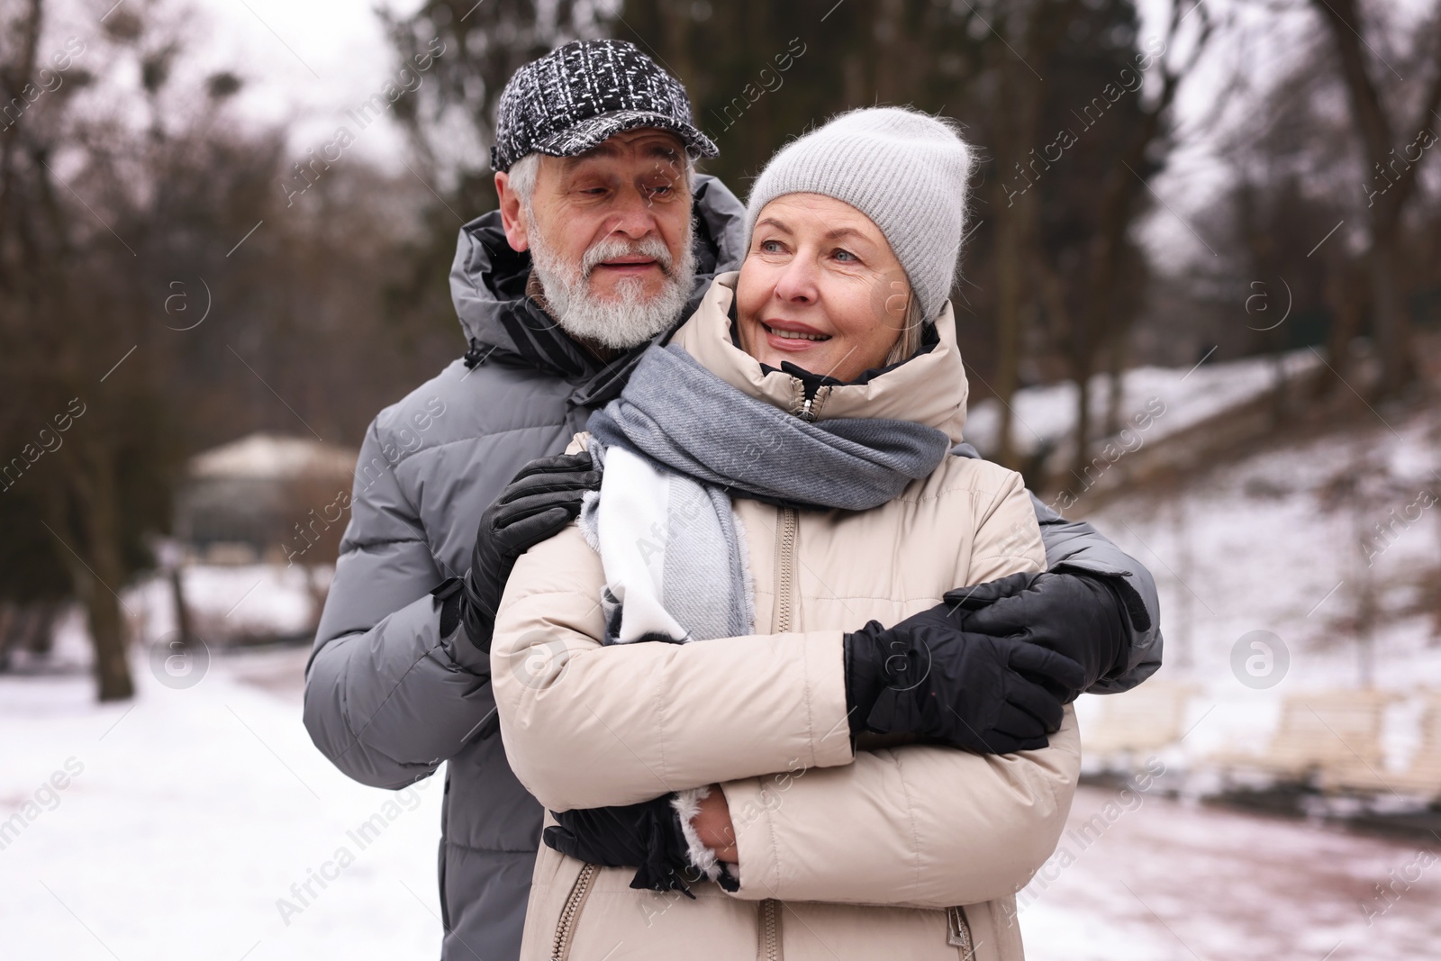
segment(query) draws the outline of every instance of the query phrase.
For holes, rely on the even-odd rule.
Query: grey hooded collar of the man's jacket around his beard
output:
[[[695,310],[715,274],[739,262],[744,252],[745,207],[715,177],[696,177],[693,236],[696,288],[682,317]],[[476,356],[562,377],[575,388],[571,395],[575,405],[605,403],[620,393],[650,344],[601,360],[561,330],[527,294],[529,278],[530,255],[510,249],[499,210],[461,228],[451,265],[451,300]]]

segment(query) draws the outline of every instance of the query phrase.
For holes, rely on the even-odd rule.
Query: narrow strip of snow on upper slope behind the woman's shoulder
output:
[[[1297,377],[1316,367],[1320,357],[1310,349],[1282,356],[1287,377]],[[1134,367],[1125,373],[1121,389],[1120,421],[1137,432],[1134,418],[1144,418],[1138,431],[1147,442],[1205,421],[1244,403],[1275,386],[1277,362],[1271,357],[1246,357],[1195,367]],[[1091,412],[1097,437],[1110,405],[1110,379],[1091,377]],[[1042,447],[1059,447],[1075,431],[1076,385],[1071,382],[1026,388],[1012,398],[1014,422],[1012,438],[1016,450],[1030,454]],[[1146,415],[1150,415],[1148,418]],[[981,452],[999,447],[1000,405],[987,398],[971,405],[965,416],[965,439]],[[1134,441],[1133,441],[1134,442]]]

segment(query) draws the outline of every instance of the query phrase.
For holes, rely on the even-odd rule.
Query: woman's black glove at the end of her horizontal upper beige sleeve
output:
[[[1050,687],[1079,684],[1081,666],[1035,644],[965,633],[951,607],[846,635],[852,735],[916,735],[977,754],[1045,748],[1062,720]]]

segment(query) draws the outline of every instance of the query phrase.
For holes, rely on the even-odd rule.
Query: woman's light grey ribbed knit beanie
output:
[[[934,321],[951,294],[965,235],[971,150],[945,122],[904,107],[834,117],[771,157],[751,189],[745,236],[787,193],[836,197],[875,222]]]

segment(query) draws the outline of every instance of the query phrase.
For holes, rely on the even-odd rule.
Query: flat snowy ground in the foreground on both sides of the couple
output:
[[[300,723],[303,663],[222,658],[189,690],[140,666],[133,707],[89,703],[79,676],[0,679],[0,958],[434,958],[440,782],[337,774]],[[1085,834],[1117,798],[1082,788],[1074,859],[1023,895],[1032,961],[1438,957],[1441,862],[1414,866],[1414,844],[1154,791]],[[1393,870],[1419,880],[1368,926],[1359,902],[1385,909]]]

